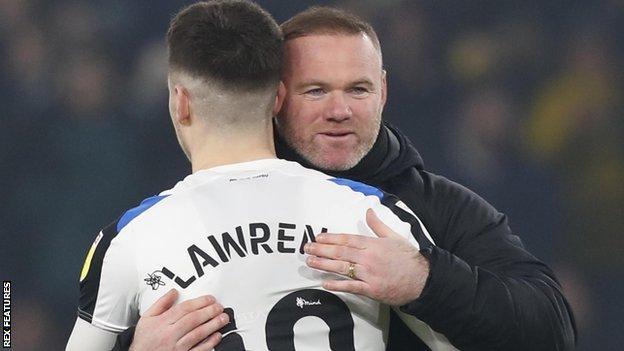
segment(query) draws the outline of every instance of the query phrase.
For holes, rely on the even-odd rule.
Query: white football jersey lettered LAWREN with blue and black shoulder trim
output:
[[[303,246],[321,232],[375,236],[369,208],[415,247],[430,245],[397,201],[278,159],[198,171],[99,233],[79,316],[121,332],[176,288],[179,301],[210,294],[227,308],[216,350],[384,350],[388,307],[324,290],[323,280],[347,278],[309,268]]]

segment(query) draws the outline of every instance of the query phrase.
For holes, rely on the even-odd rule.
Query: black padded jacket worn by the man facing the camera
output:
[[[311,167],[276,137],[280,158]],[[421,219],[435,246],[422,295],[401,310],[444,334],[458,349],[571,350],[572,312],[553,272],[513,235],[505,215],[472,191],[429,173],[409,140],[382,127],[354,168],[328,172],[397,195]],[[388,350],[429,350],[392,313]],[[116,350],[127,349],[134,330]]]

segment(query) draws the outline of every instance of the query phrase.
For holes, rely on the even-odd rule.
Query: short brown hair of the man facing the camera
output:
[[[366,34],[381,55],[381,45],[373,26],[358,16],[335,7],[310,7],[282,23],[280,27],[284,41],[314,34]]]

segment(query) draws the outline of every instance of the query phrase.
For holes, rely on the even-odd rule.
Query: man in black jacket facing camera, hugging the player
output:
[[[335,234],[332,245],[308,250],[316,258],[310,265],[356,279],[326,288],[398,306],[460,350],[572,349],[572,313],[552,271],[523,248],[503,214],[425,171],[407,138],[381,124],[386,81],[372,28],[344,12],[315,8],[282,29],[287,97],[276,122],[283,137],[276,140],[278,155],[398,195],[435,243],[406,260],[381,239],[358,248],[376,254],[358,255],[347,236]],[[366,271],[346,271],[349,262]],[[391,279],[405,271],[415,278]],[[379,276],[387,279],[374,279]],[[431,345],[392,315],[389,350],[438,349]]]

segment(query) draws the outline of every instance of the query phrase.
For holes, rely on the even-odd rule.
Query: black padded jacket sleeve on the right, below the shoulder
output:
[[[430,275],[421,296],[401,310],[461,350],[573,349],[576,327],[559,282],[505,215],[456,183],[420,174],[410,203],[435,246],[423,250]]]

